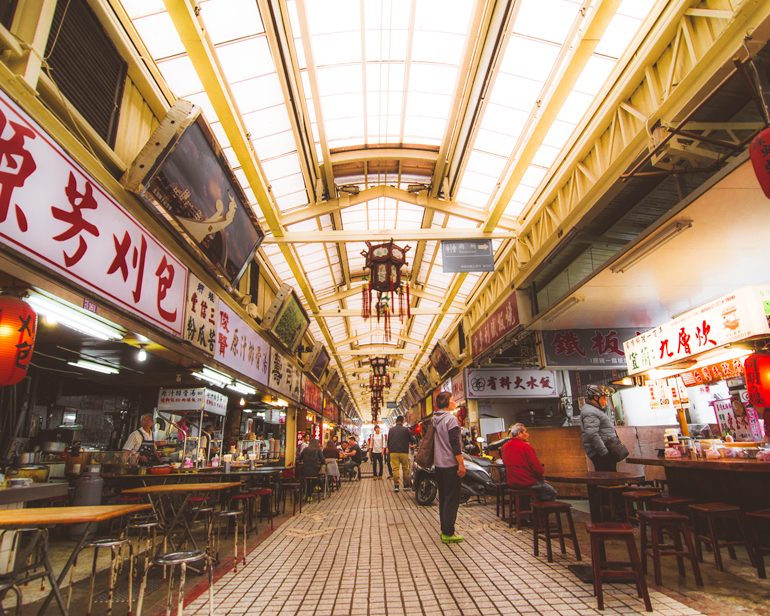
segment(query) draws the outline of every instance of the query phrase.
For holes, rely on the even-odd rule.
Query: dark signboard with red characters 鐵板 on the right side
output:
[[[618,368],[626,363],[623,343],[639,331],[633,328],[558,329],[544,331],[543,351],[549,368]]]

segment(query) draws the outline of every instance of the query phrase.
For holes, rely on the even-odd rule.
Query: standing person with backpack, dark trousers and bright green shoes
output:
[[[457,510],[460,507],[460,487],[465,477],[460,424],[452,414],[455,399],[448,391],[436,396],[438,411],[433,413],[434,465],[438,484],[441,541],[460,543],[464,537],[455,534]]]

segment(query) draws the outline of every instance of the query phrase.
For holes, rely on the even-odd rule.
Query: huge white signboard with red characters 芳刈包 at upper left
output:
[[[187,268],[0,92],[0,241],[182,336]]]

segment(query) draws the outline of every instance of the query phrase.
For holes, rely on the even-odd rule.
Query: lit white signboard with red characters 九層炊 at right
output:
[[[629,374],[770,334],[764,287],[745,287],[623,343]]]

